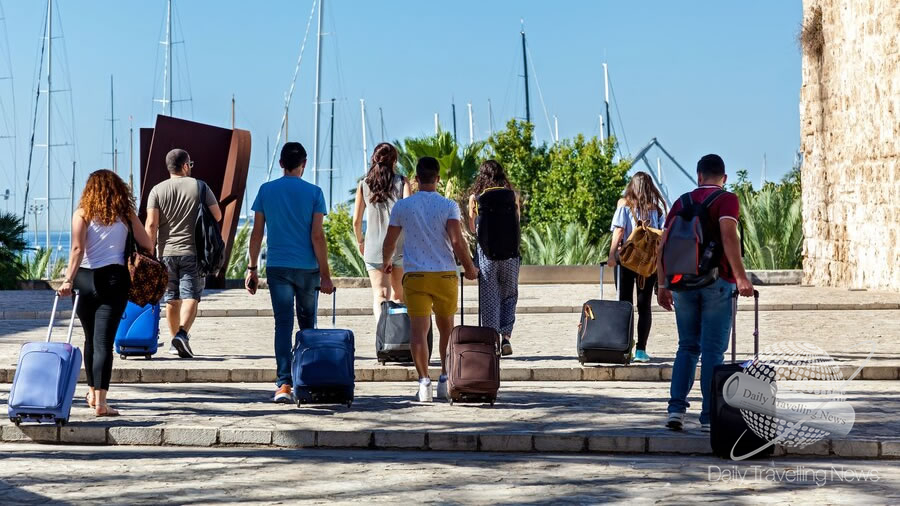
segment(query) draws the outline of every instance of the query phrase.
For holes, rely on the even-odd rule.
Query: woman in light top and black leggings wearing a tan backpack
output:
[[[613,233],[609,249],[610,267],[615,268],[618,260],[619,248],[631,235],[638,221],[648,227],[662,229],[666,219],[666,201],[653,184],[653,179],[646,172],[636,172],[625,188],[625,196],[619,199],[616,212],[613,215],[610,231]],[[617,274],[619,285],[619,300],[634,303],[634,291],[637,286],[638,308],[638,342],[635,347],[634,361],[649,362],[647,354],[647,338],[650,336],[650,326],[653,317],[650,313],[650,304],[653,300],[653,287],[656,286],[656,274],[646,279],[634,271],[619,266]]]

